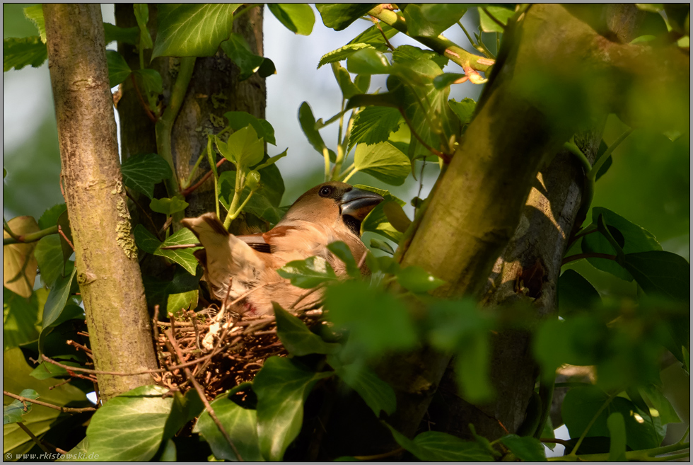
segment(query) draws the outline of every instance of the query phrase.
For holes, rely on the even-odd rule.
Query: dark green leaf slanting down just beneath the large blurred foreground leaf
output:
[[[361,363],[342,364],[337,357],[327,357],[327,363],[337,372],[344,383],[354,389],[359,396],[371,408],[375,416],[380,416],[380,411],[388,415],[395,413],[397,398],[395,391],[370,369]]]

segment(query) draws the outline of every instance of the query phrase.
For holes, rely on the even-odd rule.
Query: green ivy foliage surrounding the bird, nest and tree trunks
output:
[[[110,85],[133,79],[141,86],[146,110],[162,117],[165,110],[160,97],[171,90],[164,88],[157,71],[146,67],[144,50],[151,50],[152,57],[177,58],[206,57],[221,50],[238,67],[241,80],[255,73],[261,77],[274,74],[272,61],[250,52],[245,40],[232,30],[234,19],[254,6],[161,4],[156,40],[152,40],[148,8],[146,4],[135,4],[137,28],[105,25],[105,35],[107,42],[118,40],[136,45],[140,67],[131,69],[119,52],[108,51]],[[269,4],[268,8],[293,33],[310,35],[313,30],[315,17],[308,5]],[[501,47],[499,51],[499,44],[508,28],[519,21],[522,6],[407,4],[404,11],[395,15],[397,21],[391,23],[385,16],[378,16],[383,7],[376,4],[318,4],[317,8],[322,22],[334,30],[343,30],[368,13],[377,23],[343,47],[325,54],[318,63],[318,67],[332,67],[342,91],[339,112],[323,121],[316,119],[308,102],[298,109],[305,137],[322,156],[322,161],[316,159],[316,163],[324,164],[325,180],[347,182],[356,173],[362,173],[398,186],[409,181],[409,173],[414,175],[417,163],[436,161],[444,169],[453,156],[473,155],[460,154],[457,149],[474,118],[476,103],[470,98],[459,102],[450,99],[450,87],[467,80],[474,84],[486,82],[479,72],[489,71],[496,56],[500,59],[503,50]],[[662,19],[659,11],[664,7],[659,4],[640,8]],[[387,8],[385,11],[395,14]],[[470,12],[474,13],[472,21],[479,26],[475,40],[460,22],[470,18]],[[39,35],[4,39],[4,71],[28,65],[37,67],[47,57],[42,11],[30,7],[26,14],[37,25]],[[680,39],[688,39],[688,15],[686,8],[667,10],[667,25],[677,31]],[[450,28],[462,28],[474,49],[484,57],[474,54],[472,62],[460,64],[460,56],[464,55],[457,54],[455,58],[436,50],[436,40],[443,40],[441,34]],[[663,35],[666,33],[664,30]],[[406,34],[428,48],[394,47],[390,39],[397,34]],[[444,72],[451,63],[460,64],[464,73]],[[386,88],[368,93],[374,74],[387,76]],[[266,143],[276,144],[272,124],[245,112],[228,112],[224,116],[228,124],[216,134],[209,134],[206,149],[187,179],[177,178],[170,154],[137,154],[122,162],[127,192],[133,197],[144,195],[151,210],[166,218],[161,231],[149,228],[145,222],[134,226],[140,257],[157,257],[175,270],[168,280],[144,275],[150,306],[159,304],[168,312],[197,306],[202,275],[193,256],[197,239],[187,229],[174,228],[171,223],[188,206],[185,196],[194,190],[193,181],[199,176],[198,169],[205,157],[214,180],[216,212],[221,217],[220,208],[226,209],[227,229],[241,215],[272,226],[283,213],[280,205],[284,180],[274,163],[286,156],[286,151],[272,158],[265,153]],[[613,120],[612,117],[609,127],[622,125]],[[339,125],[334,145],[320,134],[331,124]],[[636,128],[632,137],[641,137],[648,131],[653,130]],[[659,139],[651,138],[658,144],[661,138],[670,136],[665,139],[669,145],[685,144],[687,139],[685,134],[675,137],[672,132],[656,135]],[[626,137],[617,142],[612,142],[612,138],[610,144],[604,142],[608,149],[600,152],[603,159],[586,167],[584,176],[591,180],[586,185],[595,189],[595,199],[600,198],[602,183],[609,182],[608,163],[617,164],[620,157],[627,157],[624,147],[636,151],[624,142]],[[624,145],[616,151],[621,142]],[[574,150],[573,154],[580,157]],[[351,163],[349,156],[353,156]],[[219,163],[229,163],[234,169],[219,175]],[[583,179],[576,182],[582,184]],[[175,185],[180,192],[156,198],[155,194],[163,192],[161,183],[167,187]],[[385,197],[385,202],[363,221],[361,231],[383,237],[384,240],[371,241],[372,249],[395,252],[412,225],[402,210],[406,202],[387,190],[359,187]],[[450,207],[454,207],[453,202]],[[583,207],[588,212],[590,203]],[[593,367],[594,383],[580,381],[562,404],[562,418],[571,435],[571,449],[566,454],[571,459],[576,459],[578,452],[581,458],[593,460],[652,459],[665,452],[679,452],[687,447],[685,437],[674,444],[676,447],[661,445],[667,424],[678,423],[680,418],[665,395],[660,358],[670,353],[689,372],[689,263],[686,258],[663,250],[663,243],[655,234],[606,207],[592,207],[590,224],[575,232],[564,253],[564,265],[569,266],[557,283],[559,318],[543,319],[525,311],[521,304],[516,308],[482,310],[470,299],[433,297],[436,289],[450,285],[436,277],[435,270],[400,267],[394,258],[373,252],[366,256],[372,274],[361,277],[348,248],[343,243],[333,243],[330,250],[344,261],[351,280],[339,279],[320,257],[296,260],[279,270],[297,287],[326,288],[324,304],[329,325],[323,330],[308,328],[275,304],[277,334],[290,356],[269,358],[252,384],[238,387],[248,398],[256,399],[255,405],[240,403],[233,390],[211,402],[233,444],[221,434],[210,412],[199,397],[195,398],[194,390],[185,397],[180,393],[164,396],[166,392],[161,386],[141,386],[100,406],[91,416],[85,435],[73,438],[74,452],[99,454],[100,459],[113,461],[176,457],[183,447],[176,433],[197,418],[192,434],[209,444],[216,459],[281,460],[305,427],[304,406],[309,396],[322,389],[318,386],[332,383],[355,391],[375,418],[388,428],[395,442],[422,461],[542,461],[546,456],[540,440],[546,439],[542,435],[546,416],[540,420],[541,413],[537,412],[528,411],[528,417],[536,417],[528,418],[535,420],[536,426],[524,436],[508,434],[491,440],[477,436],[473,425],[473,440],[463,440],[440,431],[421,432],[409,438],[387,423],[397,402],[390,384],[373,369],[383,353],[405,353],[426,345],[455,355],[460,396],[481,404],[494,398],[491,334],[505,330],[532,334],[533,356],[541,367],[537,384],[552,384],[556,370],[565,364]],[[38,398],[58,406],[69,402],[83,404],[83,391],[91,391],[91,384],[80,383],[66,369],[50,364],[42,364],[32,372],[23,360],[22,350],[33,356],[59,355],[60,360],[75,365],[83,362],[79,355],[66,352],[62,336],[71,335],[71,326],[84,318],[76,292],[76,282],[81,277],[70,260],[70,238],[64,205],[50,209],[38,222],[28,216],[4,222],[4,373],[9,380],[4,388],[21,393],[24,398]],[[583,271],[586,264],[590,266],[587,272]],[[37,269],[40,286],[35,285]],[[615,281],[627,287],[628,292],[612,292]],[[522,303],[531,304],[527,299]],[[56,342],[58,338],[62,338],[62,345]],[[61,384],[57,391],[48,390],[48,386],[63,378],[69,382]],[[541,407],[544,411],[549,408]],[[46,412],[43,407],[30,408],[30,404],[24,410],[20,401],[7,401],[5,450],[21,453],[33,447],[16,425],[18,422],[31,426],[33,433],[41,436],[68,421],[67,415],[58,411]],[[606,439],[600,442],[601,438]],[[79,440],[79,445],[74,444]],[[199,444],[197,447],[198,458],[204,459],[204,448]],[[587,449],[593,455],[584,454]]]

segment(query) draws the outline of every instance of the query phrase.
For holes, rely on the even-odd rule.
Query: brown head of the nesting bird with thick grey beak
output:
[[[368,190],[330,181],[317,185],[298,197],[281,222],[334,224],[341,221],[351,232],[359,236],[361,222],[375,205],[383,200],[382,196]]]

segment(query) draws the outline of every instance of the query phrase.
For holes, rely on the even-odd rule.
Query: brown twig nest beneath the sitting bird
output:
[[[321,309],[298,311],[308,326],[319,322]],[[170,321],[158,321],[154,338],[161,368],[153,374],[157,384],[185,394],[192,389],[186,369],[209,400],[238,384],[252,381],[268,357],[288,355],[276,335],[274,315],[245,316],[210,306],[202,311],[180,311]]]

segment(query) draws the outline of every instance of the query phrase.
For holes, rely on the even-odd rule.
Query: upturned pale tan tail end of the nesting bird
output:
[[[202,263],[205,279],[217,299],[226,297],[230,282],[231,297],[257,285],[265,269],[265,260],[245,241],[229,234],[216,214],[186,218],[180,224],[190,229],[204,247],[195,252],[195,257]]]

